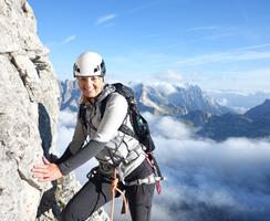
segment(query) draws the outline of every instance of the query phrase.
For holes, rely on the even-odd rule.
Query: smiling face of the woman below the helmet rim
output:
[[[79,76],[77,85],[85,98],[95,98],[103,88],[103,77],[101,76]]]

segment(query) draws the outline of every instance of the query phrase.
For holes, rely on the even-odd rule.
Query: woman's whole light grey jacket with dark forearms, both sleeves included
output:
[[[68,147],[72,157],[59,165],[63,175],[95,157],[101,169],[105,168],[104,173],[112,172],[112,167],[116,167],[123,180],[144,161],[143,146],[137,139],[118,130],[122,124],[131,129],[132,125],[125,97],[114,91],[113,85],[105,85],[94,104],[85,104],[87,126],[77,119],[73,139]],[[104,116],[101,118],[101,104],[108,95]]]

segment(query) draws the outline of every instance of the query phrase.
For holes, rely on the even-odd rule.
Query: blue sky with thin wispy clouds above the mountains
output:
[[[104,56],[107,77],[204,90],[270,91],[268,0],[29,0],[59,78],[76,56]]]

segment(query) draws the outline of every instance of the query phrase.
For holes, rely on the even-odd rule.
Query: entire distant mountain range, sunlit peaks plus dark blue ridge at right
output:
[[[61,85],[61,110],[76,112],[80,90],[75,81]],[[220,105],[197,85],[131,83],[141,112],[172,116],[195,127],[198,137],[224,140],[228,137],[267,137],[270,135],[270,99],[237,114]]]

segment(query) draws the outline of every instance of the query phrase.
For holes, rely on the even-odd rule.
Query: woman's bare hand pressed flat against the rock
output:
[[[35,165],[32,168],[32,173],[34,178],[38,178],[39,181],[53,181],[63,177],[58,165],[51,164],[45,157],[42,157],[44,165]]]

